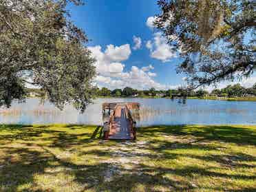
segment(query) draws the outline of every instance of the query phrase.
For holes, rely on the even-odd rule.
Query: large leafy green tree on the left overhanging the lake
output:
[[[60,109],[74,103],[85,110],[92,98],[95,60],[66,5],[65,0],[1,1],[0,106],[22,100],[31,84]]]

